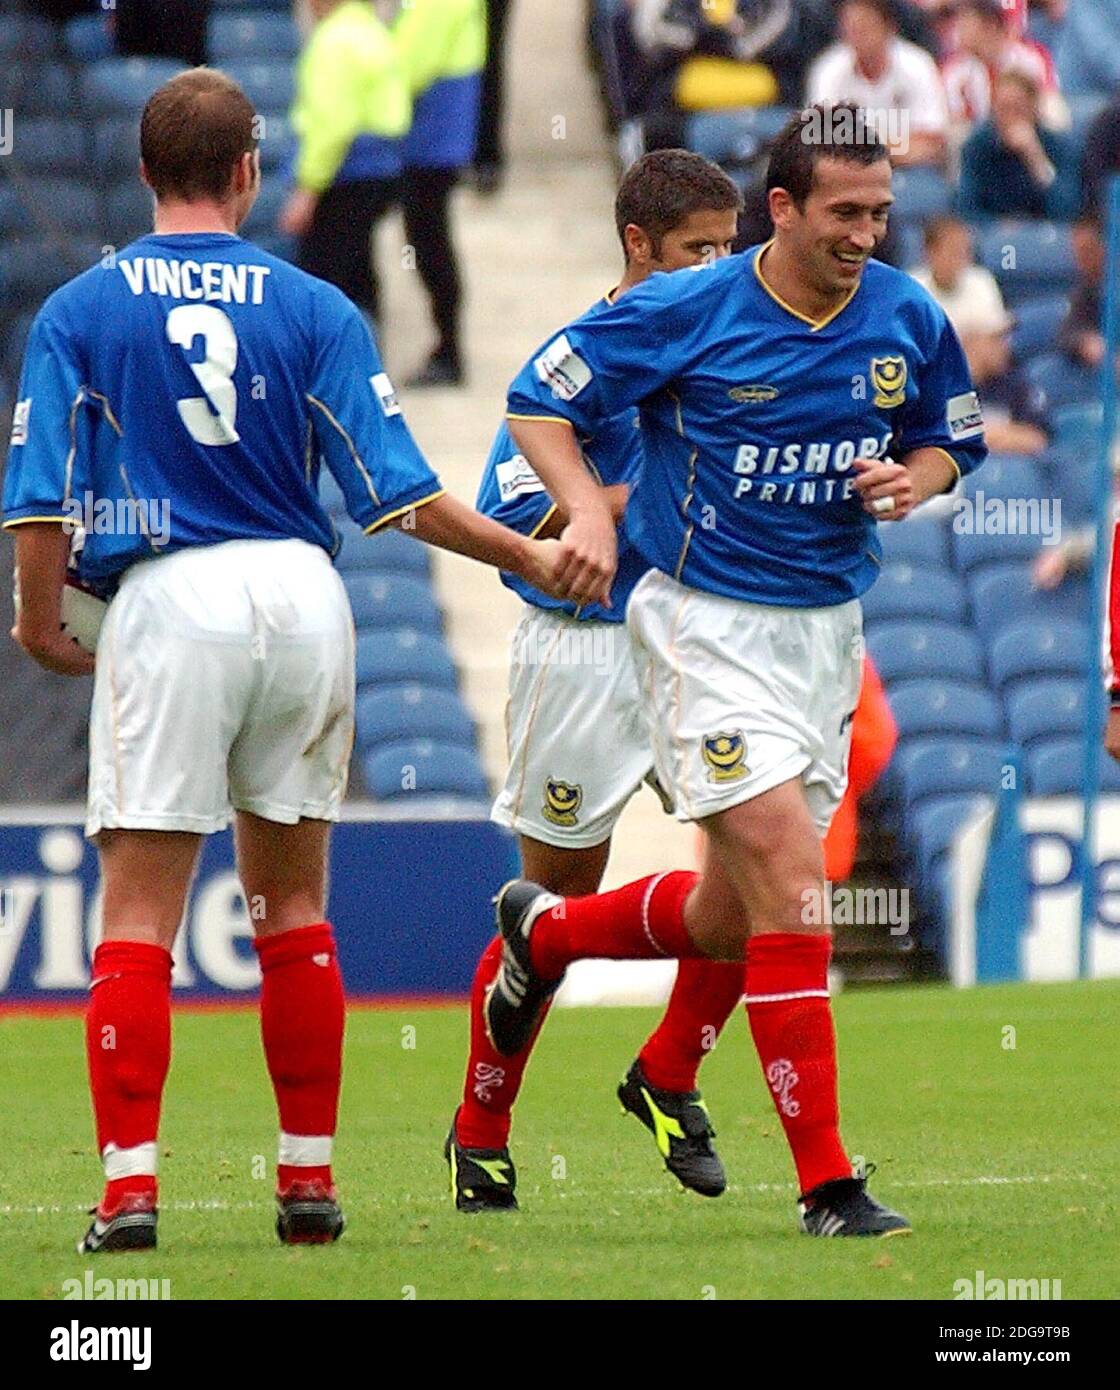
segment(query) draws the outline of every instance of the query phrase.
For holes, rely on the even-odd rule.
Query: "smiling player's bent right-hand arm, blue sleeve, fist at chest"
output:
[[[932,331],[932,352],[917,370],[917,396],[900,407],[898,461],[853,463],[859,473],[856,492],[880,521],[902,521],[923,502],[948,492],[988,456],[980,399],[964,352],[939,309]]]

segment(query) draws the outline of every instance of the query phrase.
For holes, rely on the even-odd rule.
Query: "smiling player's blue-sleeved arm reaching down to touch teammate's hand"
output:
[[[568,553],[559,580],[582,603],[610,605],[618,556],[617,521],[584,463],[577,431],[595,434],[680,374],[696,350],[700,316],[686,316],[696,320],[688,331],[677,309],[664,285],[639,285],[557,334],[510,388],[510,434],[568,518],[563,531]]]

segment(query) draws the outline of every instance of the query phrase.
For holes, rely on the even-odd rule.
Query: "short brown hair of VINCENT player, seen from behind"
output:
[[[140,158],[156,197],[224,197],[233,165],[257,147],[256,111],[215,68],[190,68],[151,93],[140,117]]]

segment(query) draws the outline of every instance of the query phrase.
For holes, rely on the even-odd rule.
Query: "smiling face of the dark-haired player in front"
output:
[[[799,208],[785,189],[771,189],[778,236],[798,263],[806,288],[834,299],[856,288],[867,257],[887,232],[891,163],[859,164],[824,156]]]

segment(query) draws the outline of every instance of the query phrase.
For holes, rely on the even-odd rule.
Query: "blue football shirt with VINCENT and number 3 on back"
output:
[[[79,577],[103,591],[182,546],[333,553],[321,461],[367,531],[442,491],[345,295],[233,235],[142,236],[32,324],[4,525],[83,524]]]

